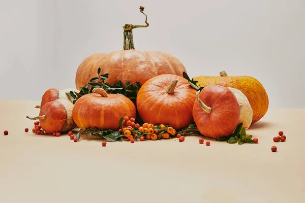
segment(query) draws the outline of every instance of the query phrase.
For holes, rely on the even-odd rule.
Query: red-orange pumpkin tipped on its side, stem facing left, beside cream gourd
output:
[[[235,95],[228,88],[208,85],[196,96],[193,117],[201,134],[216,139],[234,131],[240,108]]]

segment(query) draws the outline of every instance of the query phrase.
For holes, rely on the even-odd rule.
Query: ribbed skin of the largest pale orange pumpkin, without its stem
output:
[[[75,84],[76,88],[83,87],[90,79],[101,74],[109,73],[109,84],[120,80],[143,85],[147,80],[161,74],[182,76],[185,66],[174,56],[161,51],[120,50],[110,53],[97,53],[85,58],[79,65]]]

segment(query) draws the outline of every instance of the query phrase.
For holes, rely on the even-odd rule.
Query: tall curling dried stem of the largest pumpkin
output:
[[[132,30],[134,28],[138,28],[138,27],[148,27],[149,24],[147,22],[147,16],[146,14],[143,12],[144,11],[144,7],[140,6],[140,12],[143,13],[145,15],[145,24],[146,25],[133,25],[133,24],[125,24],[123,26],[124,29],[124,50],[130,50],[130,49],[135,49],[134,44],[133,44],[133,35],[132,35]]]

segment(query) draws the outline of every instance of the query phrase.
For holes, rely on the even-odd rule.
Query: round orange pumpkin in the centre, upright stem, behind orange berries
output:
[[[146,81],[137,95],[137,109],[144,122],[164,123],[175,129],[193,121],[196,89],[185,78],[164,74]]]

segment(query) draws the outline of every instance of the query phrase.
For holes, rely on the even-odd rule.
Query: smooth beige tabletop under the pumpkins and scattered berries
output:
[[[195,136],[102,147],[30,132],[38,104],[0,100],[0,202],[305,202],[305,109],[270,108],[247,130],[258,144]],[[284,143],[272,141],[279,130]]]

